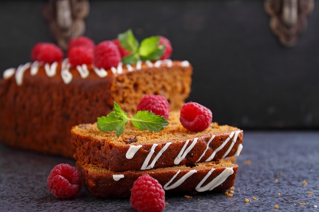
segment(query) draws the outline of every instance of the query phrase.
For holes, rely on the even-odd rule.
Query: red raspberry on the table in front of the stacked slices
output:
[[[166,204],[162,185],[148,174],[143,174],[134,182],[129,200],[139,212],[161,211]]]

